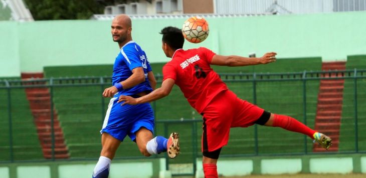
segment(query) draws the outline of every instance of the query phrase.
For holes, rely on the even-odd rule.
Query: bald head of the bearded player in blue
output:
[[[124,43],[132,40],[132,23],[127,15],[116,16],[111,25],[111,33],[114,42]]]

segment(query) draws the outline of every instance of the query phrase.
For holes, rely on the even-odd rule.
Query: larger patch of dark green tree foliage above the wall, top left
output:
[[[104,6],[94,0],[25,0],[35,20],[89,19],[103,14]]]

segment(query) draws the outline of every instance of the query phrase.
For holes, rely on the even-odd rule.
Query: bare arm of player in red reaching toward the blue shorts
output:
[[[151,101],[158,100],[160,98],[163,98],[165,96],[168,96],[171,92],[171,89],[173,88],[175,83],[175,80],[173,79],[166,79],[161,83],[161,87],[157,88],[156,90],[152,91],[148,95],[139,97],[139,98],[132,98],[131,96],[124,96],[121,95],[118,99],[118,103],[124,101],[122,105],[130,104],[130,105],[136,105],[136,104],[142,104],[147,103]]]

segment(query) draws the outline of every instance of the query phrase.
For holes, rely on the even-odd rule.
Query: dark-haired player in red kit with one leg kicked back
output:
[[[266,53],[261,58],[217,55],[207,48],[183,50],[184,37],[175,27],[161,30],[162,50],[172,58],[163,67],[161,87],[151,93],[132,98],[120,96],[125,104],[141,104],[167,96],[173,85],[179,86],[188,102],[203,115],[202,152],[205,177],[218,177],[217,160],[221,148],[228,143],[231,127],[248,127],[253,124],[281,127],[308,135],[323,148],[328,149],[331,139],[296,119],[265,111],[242,100],[230,91],[210,65],[248,66],[276,61],[276,53]]]

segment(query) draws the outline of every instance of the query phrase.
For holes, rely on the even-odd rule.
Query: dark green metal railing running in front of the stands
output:
[[[366,83],[366,69],[354,69],[354,70],[341,70],[341,71],[304,71],[304,72],[295,72],[295,73],[221,73],[219,74],[224,82],[227,83],[251,83],[252,84],[252,95],[253,101],[252,103],[257,104],[257,95],[258,95],[258,84],[261,82],[277,82],[279,85],[283,82],[288,81],[296,81],[301,82],[301,92],[302,92],[302,109],[303,109],[303,120],[302,122],[306,125],[307,124],[307,84],[310,81],[320,81],[320,80],[333,80],[333,79],[344,79],[347,83],[353,83],[353,123],[354,123],[354,149],[350,151],[343,151],[349,153],[357,153],[357,152],[364,152],[366,149],[359,149],[359,139],[358,139],[358,94],[364,91],[357,90],[360,84]],[[162,76],[156,75],[155,76],[158,82],[161,82]],[[60,87],[100,87],[100,91],[103,92],[106,86],[111,84],[110,77],[70,77],[70,78],[49,78],[49,79],[28,79],[28,80],[0,80],[0,92],[2,90],[6,91],[6,101],[0,101],[7,103],[7,119],[9,124],[9,160],[6,161],[16,161],[21,159],[14,158],[14,123],[13,123],[13,103],[12,103],[12,90],[15,89],[27,89],[27,88],[48,88],[51,96],[50,100],[50,108],[54,108],[54,90],[59,89]],[[94,88],[95,89],[95,88]],[[99,91],[98,91],[99,92]],[[104,120],[105,116],[105,109],[106,109],[106,102],[105,99],[100,96],[100,110],[101,110],[101,121]],[[364,99],[364,98],[363,98]],[[57,104],[57,103],[56,103]],[[152,103],[154,109],[156,110],[156,103]],[[3,109],[3,111],[5,111]],[[363,112],[363,111],[362,111]],[[55,158],[55,130],[54,130],[54,114],[51,114],[51,137],[52,137],[52,160],[56,160]],[[6,118],[1,118],[1,120],[5,120]],[[198,151],[199,146],[198,143],[200,140],[197,138],[198,130],[197,130],[197,122],[202,122],[201,119],[181,119],[181,120],[157,120],[156,124],[162,124],[162,130],[165,136],[168,135],[168,129],[170,125],[179,125],[179,124],[190,124],[192,130],[192,163],[196,168],[196,158],[201,156],[200,151]],[[363,121],[362,121],[363,122]],[[366,123],[366,121],[364,122]],[[160,127],[161,128],[161,127]],[[161,129],[160,129],[161,130]],[[223,156],[246,156],[246,155],[265,155],[266,153],[261,153],[259,151],[260,143],[259,143],[259,136],[258,136],[258,128],[254,126],[254,151],[251,153],[246,154],[224,154]],[[283,152],[283,153],[273,153],[276,155],[282,154],[317,154],[313,152],[309,152],[308,145],[309,140],[306,139],[304,136],[303,139],[303,151],[301,152]],[[339,153],[336,152],[336,153]],[[272,154],[272,153],[270,153]],[[161,156],[161,155],[160,155]],[[127,156],[128,157],[128,156]],[[123,157],[120,157],[123,158]],[[71,157],[72,159],[72,157]],[[83,158],[78,158],[83,159]],[[87,159],[87,158],[85,158]],[[169,165],[169,159],[166,159],[167,164],[166,168]]]

